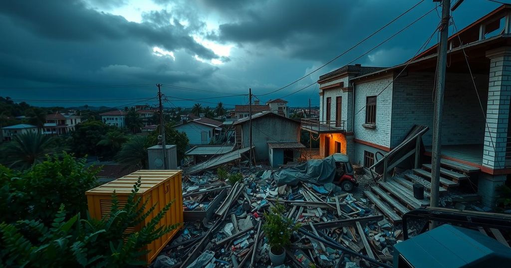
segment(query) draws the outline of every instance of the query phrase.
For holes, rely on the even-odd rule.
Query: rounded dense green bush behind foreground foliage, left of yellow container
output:
[[[0,222],[37,220],[53,222],[60,205],[68,216],[85,215],[85,191],[97,186],[95,167],[86,167],[85,159],[72,155],[47,157],[24,172],[0,167]]]

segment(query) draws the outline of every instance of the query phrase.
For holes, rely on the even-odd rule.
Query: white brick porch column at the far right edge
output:
[[[490,59],[490,84],[482,164],[499,169],[505,167],[511,97],[511,47],[487,51],[486,57]]]

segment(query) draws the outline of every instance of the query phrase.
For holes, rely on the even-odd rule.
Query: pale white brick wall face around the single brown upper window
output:
[[[367,96],[376,96],[392,81],[392,77],[355,84],[355,138],[390,147],[390,119],[392,115],[392,85],[376,99],[376,128],[368,129],[365,124]],[[357,152],[359,154],[359,152]]]

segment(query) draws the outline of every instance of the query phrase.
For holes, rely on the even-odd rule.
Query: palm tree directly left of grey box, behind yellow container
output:
[[[131,136],[131,138],[122,145],[121,151],[115,156],[115,159],[125,164],[137,168],[147,168],[147,136]]]

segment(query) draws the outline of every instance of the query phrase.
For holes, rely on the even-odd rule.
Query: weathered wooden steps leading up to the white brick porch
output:
[[[470,178],[471,174],[479,172],[479,168],[442,159],[440,161],[440,195],[447,194],[449,189],[459,186]],[[397,224],[401,216],[413,209],[429,206],[431,191],[431,164],[423,164],[422,168],[413,168],[412,173],[394,176],[386,181],[380,180],[377,186],[371,186],[364,191],[368,200],[390,220]],[[413,197],[413,184],[420,182],[424,185],[424,199]]]

